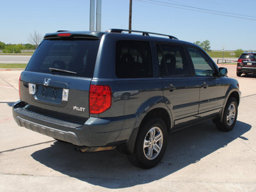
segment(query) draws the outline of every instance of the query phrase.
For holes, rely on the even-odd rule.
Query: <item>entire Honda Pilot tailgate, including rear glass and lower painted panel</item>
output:
[[[20,76],[24,109],[68,122],[89,118],[89,91],[100,39],[50,35]]]

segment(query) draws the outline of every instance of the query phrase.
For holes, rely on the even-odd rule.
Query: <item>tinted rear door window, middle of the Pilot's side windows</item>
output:
[[[160,77],[191,75],[183,47],[168,44],[156,44],[156,46]]]

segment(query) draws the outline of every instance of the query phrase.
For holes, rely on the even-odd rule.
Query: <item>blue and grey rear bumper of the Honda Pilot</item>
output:
[[[127,143],[135,115],[115,118],[90,117],[84,124],[67,122],[28,111],[21,102],[13,105],[13,118],[21,127],[79,146],[108,147]]]

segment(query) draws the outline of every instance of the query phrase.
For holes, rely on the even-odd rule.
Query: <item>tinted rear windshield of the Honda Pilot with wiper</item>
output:
[[[36,49],[26,70],[66,76],[93,77],[99,43],[100,40],[44,40]],[[51,68],[69,72],[58,72]]]

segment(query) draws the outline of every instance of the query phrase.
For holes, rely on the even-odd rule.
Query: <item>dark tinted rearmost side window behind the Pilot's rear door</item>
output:
[[[152,77],[149,42],[120,40],[116,42],[116,76],[119,78]]]

